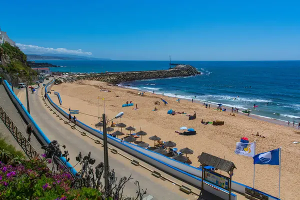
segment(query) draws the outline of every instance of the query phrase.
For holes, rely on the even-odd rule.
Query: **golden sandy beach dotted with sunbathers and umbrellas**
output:
[[[244,114],[231,116],[231,109],[226,112],[205,108],[203,103],[191,102],[177,98],[163,96],[168,104],[164,105],[160,100],[162,95],[145,92],[144,96],[138,95],[137,90],[121,88],[108,85],[104,82],[79,80],[76,83],[63,83],[54,85],[53,90],[60,93],[62,106],[66,109],[79,109],[82,113],[76,114],[78,120],[94,127],[98,122],[98,99],[100,96],[99,107],[100,115],[103,113],[102,98],[105,98],[105,113],[111,119],[118,112],[123,111],[124,116],[121,122],[127,126],[134,126],[136,131],[139,129],[147,132],[142,140],[153,145],[153,141],[148,137],[157,135],[162,141],[174,141],[178,149],[188,147],[194,151],[189,155],[193,166],[199,166],[197,156],[201,152],[207,152],[231,160],[237,169],[235,169],[233,180],[252,186],[253,181],[253,159],[251,157],[234,154],[235,143],[241,137],[246,136],[250,142],[256,140],[256,153],[272,150],[282,146],[281,159],[281,191],[282,199],[300,199],[297,193],[298,178],[300,178],[300,143],[294,144],[293,141],[300,141],[300,129],[286,125],[271,123],[269,121],[259,120],[259,117],[248,117]],[[111,90],[111,92],[100,91]],[[50,94],[55,103],[58,103],[57,96]],[[135,106],[121,107],[126,101],[137,103]],[[160,101],[160,105],[155,105],[154,101]],[[156,107],[157,111],[152,111]],[[66,110],[65,109],[65,110]],[[173,109],[176,112],[183,111],[187,114],[193,114],[196,111],[196,119],[188,120],[185,114],[167,114],[167,110]],[[67,111],[67,110],[66,110]],[[93,115],[93,116],[90,116]],[[204,121],[221,120],[224,125],[214,126],[212,124],[203,125]],[[114,120],[120,122],[120,119]],[[183,136],[175,133],[180,131],[181,126],[192,127],[196,130],[196,135]],[[115,127],[115,130],[118,128]],[[124,130],[124,133],[129,131]],[[252,134],[259,134],[265,138],[257,137]],[[112,166],[113,167],[113,166]],[[279,166],[274,165],[256,165],[255,166],[255,188],[278,196],[278,173]]]

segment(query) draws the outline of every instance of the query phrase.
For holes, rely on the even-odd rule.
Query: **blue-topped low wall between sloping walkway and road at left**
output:
[[[43,131],[39,128],[39,126],[35,123],[27,109],[24,107],[22,102],[18,99],[18,97],[14,94],[14,92],[11,90],[11,87],[9,86],[8,82],[6,80],[3,81],[3,85],[5,90],[8,93],[8,96],[10,97],[11,101],[13,104],[16,106],[17,110],[19,113],[22,115],[23,119],[25,119],[26,123],[31,123],[33,132],[35,135],[38,137],[38,140],[43,144],[46,145],[50,143],[49,138],[43,133]],[[60,160],[63,163],[66,163],[66,166],[71,169],[71,172],[75,175],[77,171],[73,168],[73,166],[69,163],[66,162],[64,157],[60,157]]]

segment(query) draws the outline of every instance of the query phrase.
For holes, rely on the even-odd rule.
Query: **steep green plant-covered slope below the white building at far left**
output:
[[[18,48],[5,42],[0,45],[0,76],[17,86],[18,82],[30,83],[36,72],[30,68],[26,55]]]

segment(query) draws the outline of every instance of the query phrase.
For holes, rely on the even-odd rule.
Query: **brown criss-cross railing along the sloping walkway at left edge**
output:
[[[29,157],[29,159],[38,157],[39,154],[37,153],[37,151],[34,149],[31,143],[26,139],[26,137],[21,133],[18,127],[16,127],[14,122],[11,120],[11,118],[8,116],[8,114],[5,112],[5,110],[2,108],[1,105],[0,105],[0,118],[2,119],[3,123],[6,125],[6,127],[12,134],[12,136],[15,138],[16,142],[20,145],[20,147]]]

